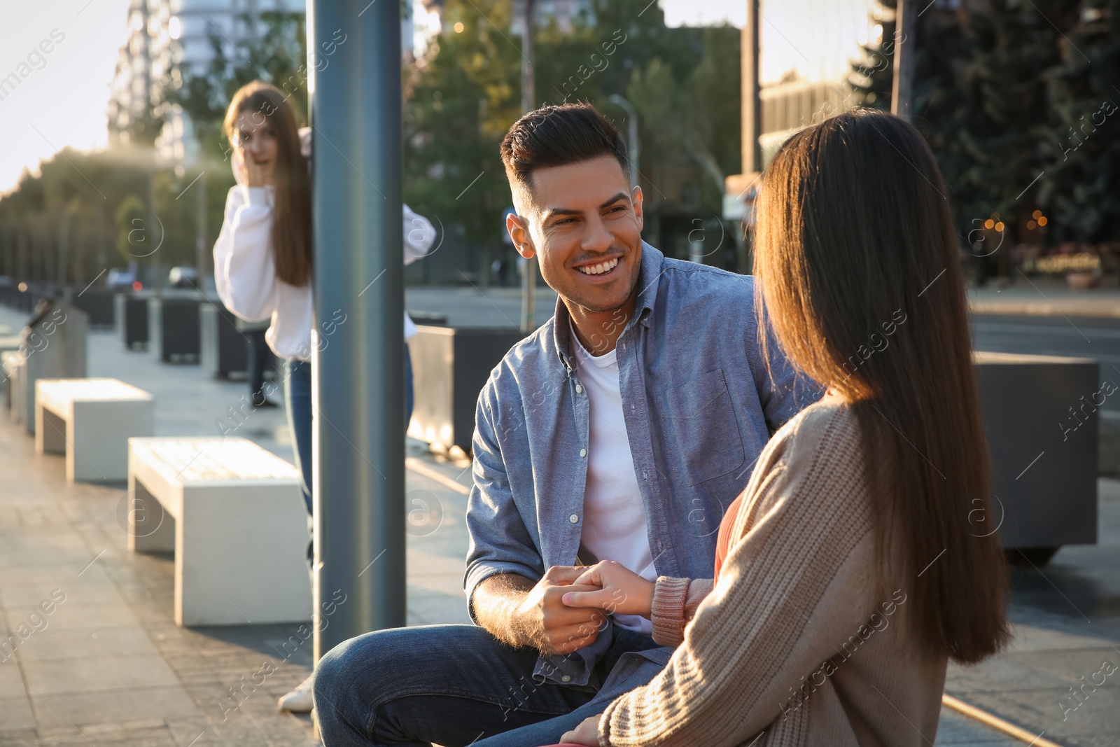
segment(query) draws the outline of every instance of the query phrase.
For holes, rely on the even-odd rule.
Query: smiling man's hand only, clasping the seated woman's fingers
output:
[[[579,568],[553,566],[514,611],[526,643],[544,654],[570,654],[590,645],[606,625],[601,609],[578,609],[563,604],[567,591],[594,591],[594,586],[573,586]]]

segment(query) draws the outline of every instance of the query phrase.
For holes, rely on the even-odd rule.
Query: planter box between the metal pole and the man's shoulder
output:
[[[416,391],[409,435],[469,455],[478,393],[522,334],[510,327],[418,325],[417,329],[409,342]]]

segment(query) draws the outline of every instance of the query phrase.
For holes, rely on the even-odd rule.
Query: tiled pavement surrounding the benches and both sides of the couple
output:
[[[0,324],[17,326],[19,317],[6,311]],[[215,419],[245,389],[208,381],[197,366],[127,353],[109,333],[91,335],[90,374],[152,391],[157,435],[167,436],[215,433]],[[254,412],[239,435],[290,458],[279,409]],[[411,455],[422,460],[420,470],[469,479],[463,465],[437,463],[416,443]],[[1102,659],[1120,663],[1113,648],[1120,642],[1120,484],[1102,486],[1101,544],[1067,548],[1040,571],[1017,573],[1015,645],[978,667],[952,667],[946,685],[1070,746],[1120,744],[1120,688],[1111,679],[1066,720],[1058,708],[1067,688]],[[465,496],[416,469],[408,470],[408,489],[410,499],[442,508],[433,531],[408,536],[408,622],[466,622]],[[280,648],[298,626],[177,627],[174,559],[128,551],[123,495],[123,485],[67,484],[60,457],[35,455],[32,439],[0,419],[0,641],[25,638],[0,661],[0,747],[316,744],[306,717],[276,710],[276,698],[310,667],[309,645],[287,657]],[[227,688],[252,682],[265,662],[276,672],[243,687],[249,697],[237,704]],[[943,712],[937,745],[1014,744],[1021,743]]]

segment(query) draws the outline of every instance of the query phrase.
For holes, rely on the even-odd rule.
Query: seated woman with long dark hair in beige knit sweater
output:
[[[933,744],[949,660],[1007,641],[946,195],[918,132],[883,113],[810,127],[774,158],[756,298],[827,394],[774,436],[729,507],[713,588],[610,562],[576,581],[603,590],[566,604],[648,616],[679,645],[563,741]]]

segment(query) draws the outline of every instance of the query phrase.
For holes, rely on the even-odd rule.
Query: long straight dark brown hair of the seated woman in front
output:
[[[970,663],[1007,641],[1007,591],[948,195],[900,119],[802,130],[766,171],[756,298],[794,365],[852,403],[880,561],[903,549],[924,648]]]

